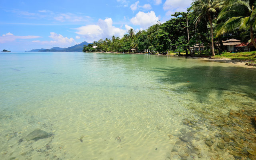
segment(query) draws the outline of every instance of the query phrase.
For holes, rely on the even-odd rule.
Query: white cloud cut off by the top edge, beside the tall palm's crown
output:
[[[164,2],[164,10],[176,10],[176,8],[187,8],[191,6],[192,2],[193,0],[166,0]]]

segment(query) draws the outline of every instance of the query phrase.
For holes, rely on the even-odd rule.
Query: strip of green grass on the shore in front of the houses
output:
[[[232,60],[256,62],[256,51],[238,53],[225,52],[223,54],[214,56],[214,58],[232,58]]]

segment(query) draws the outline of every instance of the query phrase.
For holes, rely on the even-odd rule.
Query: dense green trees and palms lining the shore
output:
[[[256,28],[256,0],[194,0],[187,12],[175,12],[174,18],[158,22],[137,33],[133,29],[122,38],[98,40],[84,46],[84,52],[186,52],[204,46],[199,54],[220,54],[224,51],[222,40],[236,38],[254,42]],[[92,48],[97,46],[97,48]],[[193,55],[192,55],[193,56]]]

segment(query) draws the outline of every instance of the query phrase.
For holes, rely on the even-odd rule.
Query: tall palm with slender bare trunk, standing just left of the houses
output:
[[[195,20],[196,26],[201,18],[207,18],[210,23],[212,56],[215,56],[212,20],[214,18],[214,14],[223,7],[223,4],[224,0],[196,0],[192,6],[192,10],[199,14]]]

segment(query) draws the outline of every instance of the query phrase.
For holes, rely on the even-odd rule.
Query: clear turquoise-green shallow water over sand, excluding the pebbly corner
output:
[[[255,88],[255,68],[190,58],[0,54],[0,159],[166,160],[183,119],[255,108]]]

